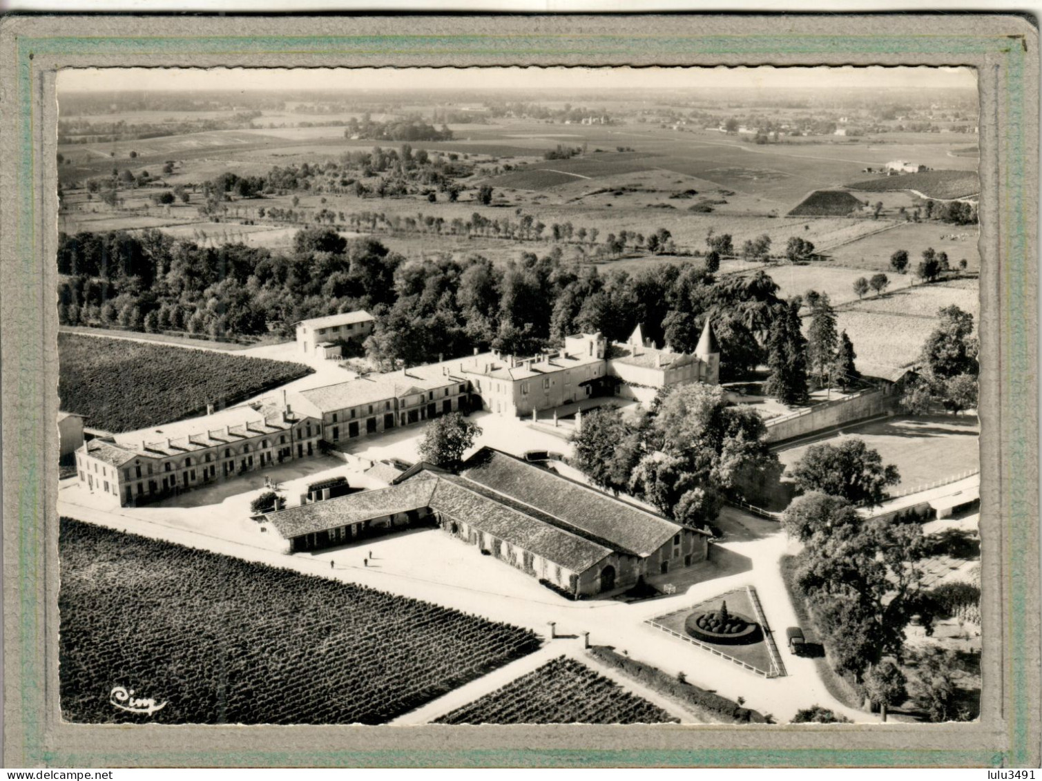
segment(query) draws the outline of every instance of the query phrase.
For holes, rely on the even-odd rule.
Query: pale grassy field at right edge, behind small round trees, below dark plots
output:
[[[905,223],[883,233],[830,249],[828,255],[840,266],[890,272],[890,256],[896,250],[905,250],[909,253],[909,267],[914,271],[922,251],[933,247],[938,252],[948,253],[948,261],[952,266],[958,266],[962,258],[966,258],[968,270],[979,271],[978,237],[975,225]]]

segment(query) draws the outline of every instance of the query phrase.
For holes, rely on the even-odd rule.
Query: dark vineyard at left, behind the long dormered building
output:
[[[58,334],[61,409],[111,433],[220,409],[314,370],[209,350]]]

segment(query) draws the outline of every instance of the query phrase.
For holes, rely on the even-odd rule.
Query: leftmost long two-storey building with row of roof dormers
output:
[[[125,507],[318,455],[321,438],[319,419],[267,402],[91,439],[76,471],[81,486]]]

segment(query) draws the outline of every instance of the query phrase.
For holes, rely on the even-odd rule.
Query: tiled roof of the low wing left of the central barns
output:
[[[272,512],[267,520],[284,538],[336,529],[396,512],[428,507],[437,478],[408,480],[389,488],[362,490],[346,497],[302,504]]]

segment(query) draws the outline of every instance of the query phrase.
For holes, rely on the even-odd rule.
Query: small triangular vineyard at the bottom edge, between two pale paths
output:
[[[437,724],[662,724],[677,722],[565,656],[436,720]]]

